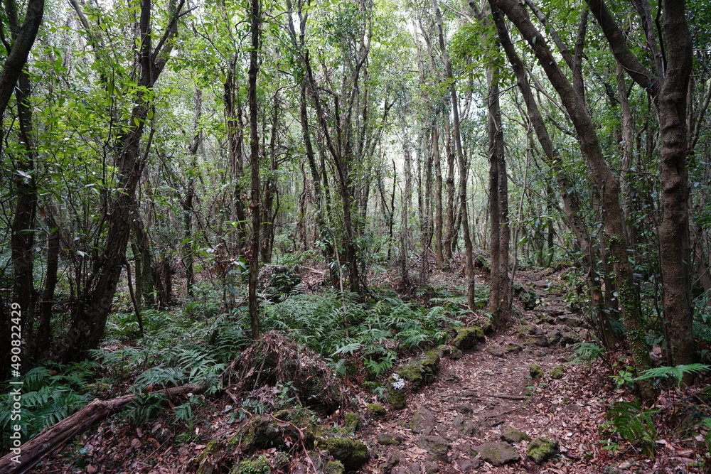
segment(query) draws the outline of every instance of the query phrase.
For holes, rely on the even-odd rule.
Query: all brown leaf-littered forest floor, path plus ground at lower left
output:
[[[614,370],[625,367],[624,355],[616,355],[616,365],[609,362],[611,356],[607,362],[600,357],[574,361],[576,355],[565,347],[566,338],[584,340],[587,329],[584,321],[571,313],[560,291],[560,276],[550,271],[520,271],[519,281],[538,294],[538,304],[522,310],[520,321],[503,333],[487,336],[457,360],[443,357],[434,382],[419,392],[408,392],[405,409],[389,408],[378,421],[362,416],[364,426],[355,438],[368,446],[370,460],[358,472],[711,472],[702,468],[710,465],[705,432],[695,429],[693,421],[705,409],[699,390],[663,389],[653,407],[658,410],[656,431],[652,429],[653,438],[646,445],[653,448],[654,456],[643,453],[643,442],[628,443],[601,430],[614,402],[634,400],[629,387],[617,386],[611,377]],[[196,413],[198,421],[190,428],[195,436],[181,438],[185,426],[168,426],[161,419],[142,429],[109,419],[33,472],[196,472],[195,460],[210,439],[217,438],[220,429],[230,429],[232,421],[224,414],[230,403],[226,398],[209,402]],[[365,391],[356,398],[361,414],[365,414],[367,402],[375,401]],[[336,413],[321,423],[343,426],[342,415]],[[537,464],[527,457],[531,441],[501,443],[509,429],[530,440],[538,436],[555,440],[559,453]],[[159,436],[166,432],[166,436]],[[477,454],[484,443],[498,443],[508,461],[495,465],[497,461]],[[269,458],[276,456],[276,451],[264,449],[257,454]],[[305,456],[293,453],[288,466],[272,472],[313,472],[309,465],[312,463]]]

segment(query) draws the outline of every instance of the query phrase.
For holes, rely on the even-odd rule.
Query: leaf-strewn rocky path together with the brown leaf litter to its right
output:
[[[604,448],[599,428],[607,421],[606,410],[613,402],[632,397],[615,387],[610,370],[600,360],[572,362],[572,350],[546,343],[550,338],[545,335],[555,333],[556,325],[579,322],[561,296],[548,291],[556,286],[556,278],[522,272],[520,279],[535,287],[540,305],[524,311],[520,325],[487,338],[460,360],[443,359],[434,384],[412,394],[406,409],[361,433],[371,446],[378,446],[378,457],[365,466],[366,472],[382,473],[384,468],[393,474],[701,472],[692,467],[695,455],[703,454],[699,440],[676,437],[674,429],[679,426],[663,433],[671,435],[667,439],[656,440],[653,458],[629,443],[617,450]],[[531,367],[540,367],[542,377],[532,379]],[[668,390],[656,408],[679,410],[683,404],[673,400],[686,398]],[[474,428],[466,424],[467,419]],[[525,433],[530,440],[544,436],[557,441],[560,456],[537,465],[526,456],[526,439],[509,445],[515,450],[510,456],[518,455],[519,461],[495,466],[476,455],[477,446],[500,443],[509,429]],[[387,441],[383,433],[399,444],[378,443],[378,439]],[[428,444],[427,436],[439,437],[448,447],[447,454],[432,456],[432,439]]]

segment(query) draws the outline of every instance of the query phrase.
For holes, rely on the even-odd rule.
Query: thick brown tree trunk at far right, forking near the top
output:
[[[690,284],[690,242],[688,222],[688,146],[687,95],[692,70],[691,36],[685,18],[685,2],[663,1],[664,38],[668,62],[663,70],[649,5],[638,2],[643,28],[651,49],[656,74],[648,71],[631,52],[626,37],[607,9],[604,0],[587,0],[615,58],[632,80],[653,99],[661,136],[660,177],[663,217],[658,228],[659,258],[663,281],[663,307],[668,325],[670,348],[676,365],[696,362],[693,338],[693,305]],[[663,75],[662,75],[663,72]],[[690,382],[691,376],[685,377]]]

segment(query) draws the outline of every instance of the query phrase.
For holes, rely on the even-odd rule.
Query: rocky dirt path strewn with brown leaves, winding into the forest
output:
[[[586,331],[555,281],[527,276],[541,303],[520,325],[459,360],[443,359],[434,382],[410,393],[405,409],[359,433],[375,455],[364,472],[599,472],[599,445],[590,438],[606,402],[585,388],[589,369],[565,364],[572,358],[565,346]],[[572,377],[582,384],[570,389]]]

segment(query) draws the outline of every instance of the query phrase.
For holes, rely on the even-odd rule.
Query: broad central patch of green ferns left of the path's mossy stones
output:
[[[459,321],[442,306],[417,308],[395,296],[360,303],[353,295],[293,295],[265,308],[264,327],[281,330],[333,361],[339,373],[357,357],[378,377],[408,350],[441,343]]]

